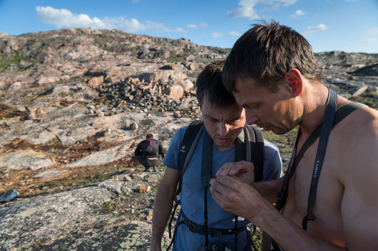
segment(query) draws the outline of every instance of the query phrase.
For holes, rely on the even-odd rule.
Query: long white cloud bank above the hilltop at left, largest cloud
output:
[[[42,23],[52,24],[57,28],[118,28],[122,31],[131,33],[145,31],[147,29],[155,29],[156,31],[166,32],[185,31],[183,28],[170,29],[165,27],[163,23],[157,23],[154,21],[145,21],[145,23],[141,23],[136,18],[91,18],[86,14],[73,14],[67,9],[53,9],[51,6],[37,6],[36,11]]]

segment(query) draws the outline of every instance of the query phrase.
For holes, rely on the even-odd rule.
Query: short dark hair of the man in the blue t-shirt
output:
[[[204,98],[212,107],[229,107],[235,105],[234,96],[228,92],[222,82],[222,69],[224,60],[207,65],[198,75],[196,82],[196,96],[200,107]]]

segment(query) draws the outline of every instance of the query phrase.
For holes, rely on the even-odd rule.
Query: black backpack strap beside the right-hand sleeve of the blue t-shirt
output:
[[[260,129],[246,125],[245,141],[250,141],[251,161],[255,166],[255,181],[262,181],[264,166],[264,136]]]

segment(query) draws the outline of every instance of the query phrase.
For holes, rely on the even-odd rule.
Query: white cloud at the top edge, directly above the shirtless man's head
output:
[[[242,18],[259,18],[259,14],[255,10],[257,4],[270,6],[272,9],[279,9],[281,6],[289,6],[294,4],[297,0],[240,0],[237,8],[233,11],[227,11],[229,17],[242,17]]]

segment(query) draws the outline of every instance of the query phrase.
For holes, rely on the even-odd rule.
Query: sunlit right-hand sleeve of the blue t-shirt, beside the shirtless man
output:
[[[282,161],[280,151],[275,144],[264,140],[264,169],[262,181],[280,178],[282,175]]]

